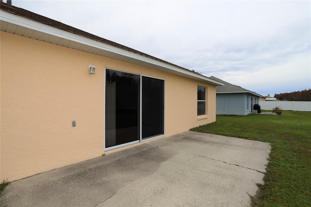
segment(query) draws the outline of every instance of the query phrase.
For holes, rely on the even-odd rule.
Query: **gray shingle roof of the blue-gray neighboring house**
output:
[[[210,76],[209,78],[225,84],[225,86],[216,86],[216,93],[251,93],[253,95],[263,97],[260,94],[257,94],[253,91],[242,88],[241,86],[236,86],[236,85],[230,84],[230,83],[225,82],[225,81],[223,81],[219,78],[216,78],[214,76]]]

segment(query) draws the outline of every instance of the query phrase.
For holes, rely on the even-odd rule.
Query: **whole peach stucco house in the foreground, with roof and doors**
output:
[[[216,121],[220,82],[0,3],[1,180]]]

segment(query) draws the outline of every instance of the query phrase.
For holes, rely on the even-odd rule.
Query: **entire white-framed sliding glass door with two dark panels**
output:
[[[163,134],[164,80],[106,69],[105,149]]]

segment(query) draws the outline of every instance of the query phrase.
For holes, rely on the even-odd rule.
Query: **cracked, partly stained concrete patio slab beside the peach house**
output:
[[[12,182],[1,207],[249,206],[270,144],[185,132]]]

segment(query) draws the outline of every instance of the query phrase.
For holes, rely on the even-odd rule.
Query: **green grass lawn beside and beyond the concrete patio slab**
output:
[[[311,207],[311,112],[217,116],[191,130],[270,142],[265,183],[254,206]]]

